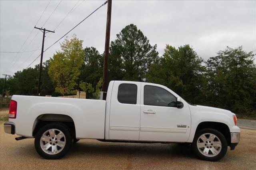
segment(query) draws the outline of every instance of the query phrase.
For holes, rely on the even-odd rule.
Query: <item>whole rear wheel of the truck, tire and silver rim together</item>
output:
[[[59,159],[70,149],[72,138],[64,124],[52,123],[42,127],[35,136],[35,148],[46,159]]]

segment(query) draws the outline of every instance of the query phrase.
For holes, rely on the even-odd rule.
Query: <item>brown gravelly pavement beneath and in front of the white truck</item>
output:
[[[80,140],[60,160],[45,160],[34,149],[34,139],[16,141],[0,124],[1,170],[252,170],[256,169],[256,130],[242,129],[240,144],[219,162],[198,160],[178,144],[109,143]]]

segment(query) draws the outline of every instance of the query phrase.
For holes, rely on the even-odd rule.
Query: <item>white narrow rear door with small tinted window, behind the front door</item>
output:
[[[141,82],[115,81],[110,103],[110,140],[139,140]]]

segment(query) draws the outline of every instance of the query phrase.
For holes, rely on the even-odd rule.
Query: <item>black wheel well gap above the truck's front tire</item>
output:
[[[225,136],[228,146],[230,146],[231,136],[230,136],[230,129],[228,128],[228,125],[221,122],[201,122],[200,124],[198,124],[196,128],[196,133],[199,130],[206,129],[206,128],[212,128],[221,132]],[[196,136],[196,133],[194,136]]]

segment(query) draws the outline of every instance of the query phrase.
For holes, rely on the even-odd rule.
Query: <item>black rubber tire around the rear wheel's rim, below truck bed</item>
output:
[[[44,132],[46,132],[47,130],[50,130],[50,129],[57,129],[57,130],[60,130],[63,134],[64,134],[64,137],[65,137],[65,146],[63,147],[63,149],[56,153],[56,154],[47,154],[40,146],[40,140],[41,140],[41,137],[42,135],[44,134]],[[49,136],[50,138],[50,136]],[[50,138],[51,139],[51,138]],[[58,142],[58,141],[57,141]],[[56,143],[57,143],[56,142]],[[46,143],[47,144],[47,143]],[[59,158],[62,158],[65,154],[67,154],[68,150],[70,149],[70,146],[72,144],[72,137],[71,137],[71,134],[70,134],[70,131],[68,130],[68,128],[64,125],[64,124],[61,124],[61,123],[51,123],[51,124],[47,124],[45,126],[43,126],[36,134],[35,136],[35,141],[34,141],[34,145],[35,145],[35,148],[36,148],[36,152],[42,156],[43,158],[45,159],[59,159]],[[56,144],[56,147],[57,147],[57,144]],[[49,148],[50,149],[50,148]],[[47,151],[48,152],[48,151]]]

